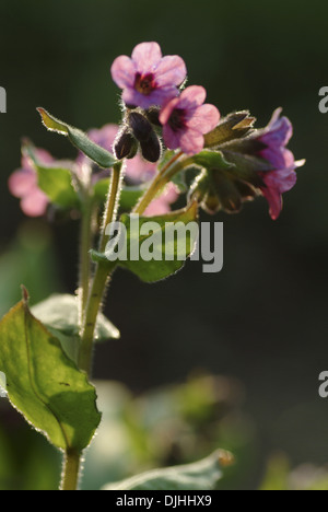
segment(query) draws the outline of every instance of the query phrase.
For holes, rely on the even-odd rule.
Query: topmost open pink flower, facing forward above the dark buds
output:
[[[177,88],[187,74],[180,57],[162,57],[157,43],[137,45],[131,57],[117,57],[110,69],[114,82],[124,90],[125,103],[149,108],[177,96]]]

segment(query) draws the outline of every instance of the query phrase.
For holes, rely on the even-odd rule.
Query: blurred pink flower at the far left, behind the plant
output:
[[[49,164],[52,156],[43,149],[36,150],[40,163]],[[11,194],[21,199],[21,208],[28,217],[42,217],[49,203],[48,197],[38,188],[37,174],[27,156],[22,158],[22,168],[15,171],[8,182]]]

